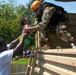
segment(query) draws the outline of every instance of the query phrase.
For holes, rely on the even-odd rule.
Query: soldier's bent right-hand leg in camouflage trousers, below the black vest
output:
[[[65,42],[74,42],[73,36],[66,30],[66,22],[60,22],[56,26],[57,36]]]

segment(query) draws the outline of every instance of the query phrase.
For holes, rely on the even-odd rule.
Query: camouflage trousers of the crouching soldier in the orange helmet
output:
[[[53,35],[56,34],[56,35]],[[53,36],[52,36],[53,35]],[[60,22],[55,28],[47,28],[46,30],[44,30],[44,32],[42,32],[41,35],[41,41],[45,41],[47,43],[47,45],[52,48],[52,44],[51,44],[51,39],[53,38],[60,38],[61,40],[65,41],[65,42],[74,42],[74,37],[71,35],[71,33],[69,33],[66,30],[66,25],[65,22]],[[46,43],[42,43],[42,46],[45,45]]]

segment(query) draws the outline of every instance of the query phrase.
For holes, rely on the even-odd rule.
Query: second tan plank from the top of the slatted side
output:
[[[38,59],[76,67],[76,58],[73,58],[73,57],[39,54]]]

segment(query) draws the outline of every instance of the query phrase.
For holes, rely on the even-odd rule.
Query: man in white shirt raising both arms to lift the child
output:
[[[8,45],[4,39],[0,39],[0,75],[11,75],[10,62],[13,57],[22,51],[24,40],[27,36],[28,33],[23,33],[20,36],[22,37],[20,41],[18,37]]]

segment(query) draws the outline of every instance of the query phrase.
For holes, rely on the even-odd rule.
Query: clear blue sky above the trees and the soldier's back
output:
[[[0,2],[2,1],[8,2],[8,0],[0,0]],[[27,3],[29,3],[29,1],[30,0],[16,0],[15,4],[18,5],[23,4],[24,6],[26,6]],[[65,10],[69,13],[76,13],[76,1],[75,2],[59,2],[55,0],[45,0],[45,1],[64,7]]]

